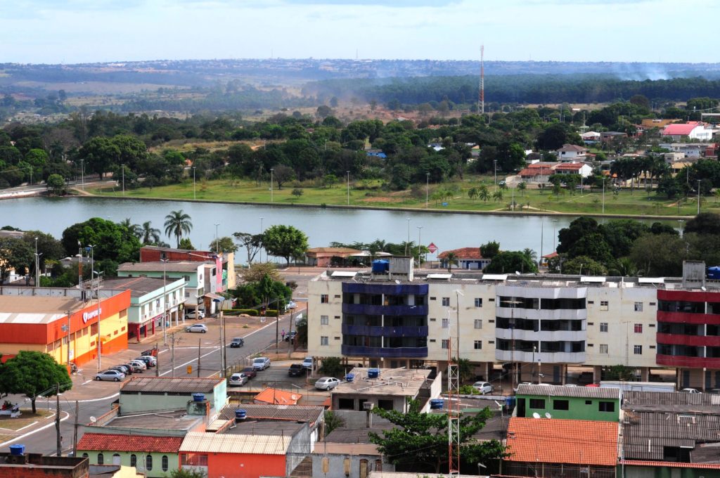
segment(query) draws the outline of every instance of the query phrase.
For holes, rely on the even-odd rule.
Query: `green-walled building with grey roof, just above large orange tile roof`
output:
[[[516,394],[518,417],[568,420],[620,420],[621,391],[606,387],[562,387],[559,385],[521,384]]]

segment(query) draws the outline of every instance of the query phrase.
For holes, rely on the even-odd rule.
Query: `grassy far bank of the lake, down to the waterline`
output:
[[[463,185],[466,186],[466,185]],[[467,188],[473,187],[467,184]],[[197,188],[200,189],[200,188]],[[514,191],[501,189],[503,201],[470,199],[460,187],[452,197],[445,201],[431,200],[428,188],[428,202],[425,194],[418,198],[417,191],[364,191],[335,188],[289,188],[269,191],[254,183],[243,181],[207,181],[200,190],[193,190],[189,184],[154,187],[152,189],[126,190],[125,195],[117,188],[92,188],[83,191],[83,195],[113,199],[140,199],[152,201],[184,201],[216,204],[239,204],[269,207],[326,208],[326,209],[366,209],[398,212],[437,212],[459,215],[502,215],[502,216],[549,216],[577,217],[579,215],[598,218],[634,218],[643,220],[687,220],[697,214],[696,202],[662,200],[646,194],[645,191],[606,192],[603,212],[602,191],[583,191],[582,194],[551,195],[539,189]],[[490,190],[493,186],[490,186]],[[469,189],[468,189],[469,190]],[[437,191],[437,189],[436,189]],[[79,191],[78,191],[79,192]],[[425,191],[422,191],[423,193]],[[492,194],[492,193],[490,193]],[[513,199],[515,210],[513,210]],[[345,204],[343,204],[345,202]],[[348,202],[350,204],[348,204]],[[427,204],[427,207],[426,207]],[[701,212],[720,212],[720,204],[701,201]]]

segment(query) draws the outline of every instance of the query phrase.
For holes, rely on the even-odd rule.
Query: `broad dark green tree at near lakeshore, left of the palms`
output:
[[[122,263],[140,258],[140,240],[135,234],[123,225],[100,217],[71,225],[63,231],[61,242],[68,256],[75,256],[78,246],[93,246],[94,258],[98,262],[109,259]]]

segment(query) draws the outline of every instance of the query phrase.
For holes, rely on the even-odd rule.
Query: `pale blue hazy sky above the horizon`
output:
[[[719,61],[700,0],[0,0],[0,63]],[[703,31],[707,32],[703,35]]]

